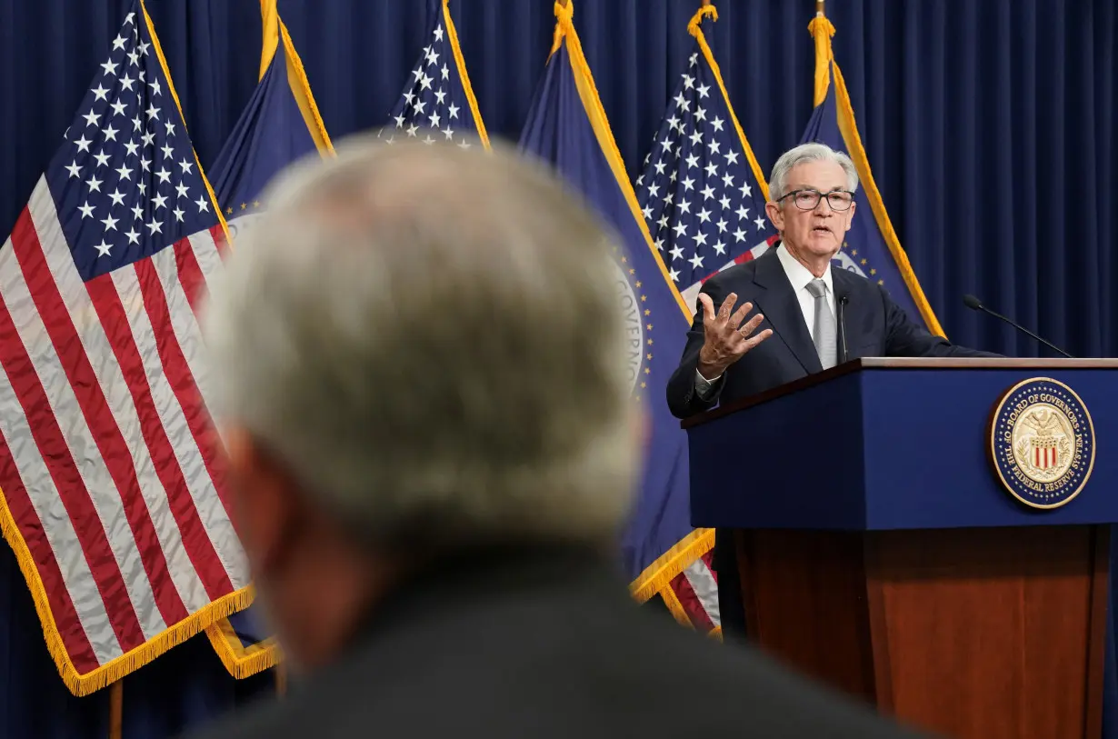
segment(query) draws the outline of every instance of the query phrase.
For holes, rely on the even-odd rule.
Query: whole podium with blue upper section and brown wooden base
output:
[[[1084,426],[1021,426],[1057,395]],[[860,359],[683,426],[692,523],[732,530],[761,650],[944,736],[1100,736],[1118,360]],[[1078,454],[1078,493],[1016,479],[1013,445],[1042,479]]]

